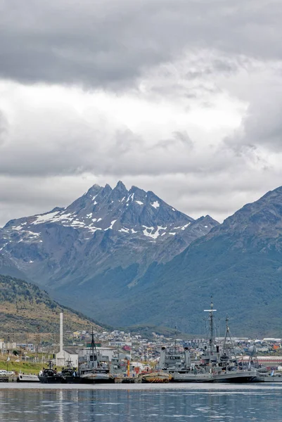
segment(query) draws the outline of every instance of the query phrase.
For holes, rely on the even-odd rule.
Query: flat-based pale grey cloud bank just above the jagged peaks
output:
[[[209,146],[205,151],[196,151],[186,132],[172,132],[165,141],[154,140],[154,145],[148,146],[129,129],[109,134],[102,128],[86,127],[75,116],[72,118],[68,122],[62,117],[55,131],[46,127],[44,121],[39,129],[27,134],[19,128],[14,138],[11,136],[0,146],[0,174],[31,177],[85,172],[120,177],[175,172],[200,174],[219,173],[229,165],[240,167],[243,162],[233,160],[233,154]]]

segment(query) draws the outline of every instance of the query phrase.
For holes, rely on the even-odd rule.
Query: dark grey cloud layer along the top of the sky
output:
[[[1,0],[0,76],[120,89],[185,49],[281,58],[281,13],[264,0]]]

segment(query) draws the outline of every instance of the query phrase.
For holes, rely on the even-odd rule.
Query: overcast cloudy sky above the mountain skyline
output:
[[[282,185],[280,0],[0,0],[0,226],[122,180],[222,222]]]

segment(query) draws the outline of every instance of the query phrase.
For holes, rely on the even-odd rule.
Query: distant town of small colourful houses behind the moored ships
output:
[[[141,335],[126,333],[125,331],[103,331],[95,332],[94,338],[97,349],[101,350],[104,355],[112,354],[111,351],[117,350],[129,357],[132,362],[146,362],[150,366],[154,366],[160,357],[162,347],[175,347],[178,352],[182,352],[184,347],[188,347],[191,356],[194,359],[200,359],[205,347],[208,346],[208,340],[205,338],[191,338],[183,340],[181,338],[168,338],[165,335],[150,333],[150,340],[143,338]],[[224,338],[215,338],[217,344],[223,343]],[[258,359],[267,366],[273,366],[276,369],[282,366],[282,339],[281,338],[232,338],[235,346],[235,352],[238,359],[248,359],[249,350],[255,344]],[[47,362],[54,359],[56,364],[65,365],[70,359],[77,366],[77,357],[79,350],[90,347],[91,332],[90,331],[74,331],[73,333],[64,333],[63,336],[63,357],[60,356],[58,362],[59,343],[51,343],[41,341],[39,344],[33,343],[16,343],[13,338],[5,338],[0,340],[0,352],[2,356],[14,355],[19,361],[28,362]],[[63,360],[62,360],[63,358]]]

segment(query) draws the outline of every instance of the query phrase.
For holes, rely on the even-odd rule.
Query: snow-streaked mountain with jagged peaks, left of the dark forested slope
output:
[[[152,262],[171,260],[217,224],[209,216],[194,220],[153,192],[127,191],[120,181],[113,189],[94,185],[66,208],[11,220],[0,230],[0,252],[60,300],[91,309],[89,288],[97,302],[107,289],[130,290]]]

